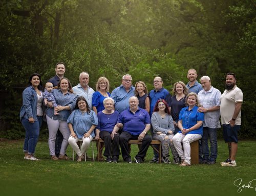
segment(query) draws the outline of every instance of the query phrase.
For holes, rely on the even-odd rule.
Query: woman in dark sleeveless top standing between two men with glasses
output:
[[[150,98],[148,97],[148,91],[146,84],[142,81],[135,84],[135,96],[139,99],[139,107],[150,112]]]

